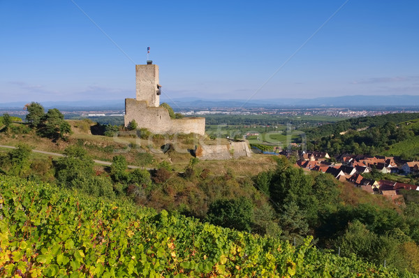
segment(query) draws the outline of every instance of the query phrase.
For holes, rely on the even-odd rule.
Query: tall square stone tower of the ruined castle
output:
[[[146,101],[149,107],[159,107],[159,66],[152,61],[147,61],[147,65],[135,65],[135,82],[137,101]]]

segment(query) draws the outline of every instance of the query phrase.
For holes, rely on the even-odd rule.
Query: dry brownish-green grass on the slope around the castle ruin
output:
[[[32,149],[62,154],[69,145],[82,145],[87,153],[93,158],[102,161],[112,161],[113,156],[122,154],[128,164],[135,166],[155,167],[161,161],[170,161],[175,170],[183,171],[188,165],[191,156],[189,150],[195,149],[196,145],[228,144],[225,138],[211,140],[205,136],[178,134],[177,136],[154,136],[153,138],[140,139],[129,137],[106,137],[91,135],[87,126],[93,125],[85,120],[71,120],[73,134],[66,142],[57,143],[47,138],[36,136],[34,131],[27,134],[0,133],[0,145],[16,146],[19,142],[27,143]],[[170,142],[175,151],[163,154],[161,146]],[[4,149],[8,152],[9,149]],[[44,154],[34,154],[43,156]],[[152,158],[150,158],[152,157]],[[236,175],[248,175],[259,173],[272,167],[272,159],[269,156],[253,155],[251,158],[231,159],[228,161],[200,161],[199,168],[208,168],[216,175],[226,173],[230,168]]]

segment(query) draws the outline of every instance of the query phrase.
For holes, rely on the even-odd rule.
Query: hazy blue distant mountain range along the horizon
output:
[[[273,98],[273,99],[203,99],[172,98],[162,99],[175,109],[182,108],[238,108],[238,107],[419,107],[419,96],[328,96],[322,98]],[[0,103],[0,108],[23,108],[27,101]],[[90,101],[41,101],[45,108],[76,110],[82,108],[124,109],[124,99]]]

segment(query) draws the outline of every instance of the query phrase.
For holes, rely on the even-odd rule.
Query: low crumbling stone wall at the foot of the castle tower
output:
[[[197,133],[205,134],[205,118],[186,117],[183,119],[170,119],[169,112],[163,107],[149,107],[146,101],[137,101],[135,98],[125,99],[124,124],[135,119],[138,129],[148,129],[156,134]]]

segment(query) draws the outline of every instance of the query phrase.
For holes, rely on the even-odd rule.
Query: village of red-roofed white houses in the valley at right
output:
[[[381,194],[397,205],[404,205],[402,189],[419,191],[419,186],[415,184],[374,180],[362,176],[365,173],[372,173],[373,170],[382,174],[397,174],[400,177],[415,175],[419,173],[419,161],[402,161],[393,156],[363,154],[340,154],[330,157],[327,152],[302,152],[299,157],[295,165],[303,170],[329,173],[337,180],[350,182],[368,193]]]

